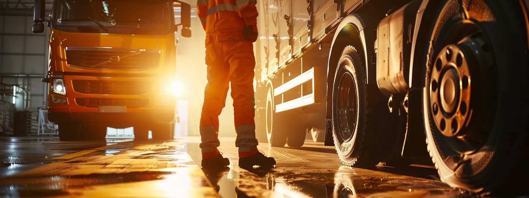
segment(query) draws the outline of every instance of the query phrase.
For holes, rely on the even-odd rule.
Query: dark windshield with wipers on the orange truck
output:
[[[58,0],[52,27],[66,32],[168,34],[174,23],[168,0]]]

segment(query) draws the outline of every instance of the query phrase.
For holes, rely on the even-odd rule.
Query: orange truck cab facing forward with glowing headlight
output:
[[[175,16],[175,11],[180,15]],[[176,12],[178,13],[178,12]],[[180,18],[176,24],[175,18]],[[136,139],[171,139],[177,97],[175,38],[189,37],[190,6],[176,0],[35,1],[34,33],[50,27],[48,117],[61,140],[102,139],[134,127]]]

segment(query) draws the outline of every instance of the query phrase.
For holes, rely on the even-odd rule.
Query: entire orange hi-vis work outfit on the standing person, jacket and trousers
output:
[[[256,0],[198,0],[198,17],[206,31],[207,86],[200,116],[203,158],[218,153],[218,116],[227,91],[235,116],[239,157],[257,152],[254,122],[253,77],[257,40]],[[211,156],[209,155],[209,156]],[[209,157],[207,156],[207,157]]]

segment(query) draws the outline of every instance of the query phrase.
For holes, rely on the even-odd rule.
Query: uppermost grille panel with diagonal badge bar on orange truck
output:
[[[70,67],[95,70],[142,70],[160,64],[160,50],[133,48],[67,47]]]

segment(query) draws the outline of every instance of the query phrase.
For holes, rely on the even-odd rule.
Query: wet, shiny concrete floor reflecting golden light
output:
[[[199,137],[170,142],[60,142],[0,138],[2,197],[470,197],[428,167],[342,166],[332,147],[260,144],[271,169],[242,169],[234,138],[219,150],[231,165],[200,169]],[[397,173],[397,174],[394,174]]]

